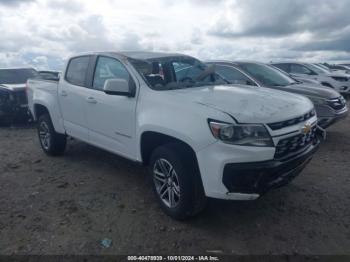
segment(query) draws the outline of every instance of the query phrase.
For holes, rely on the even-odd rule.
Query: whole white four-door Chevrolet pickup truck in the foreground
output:
[[[302,96],[228,85],[190,56],[89,53],[58,82],[28,80],[48,155],[71,136],[149,166],[162,209],[184,219],[206,198],[254,200],[287,184],[319,145]]]

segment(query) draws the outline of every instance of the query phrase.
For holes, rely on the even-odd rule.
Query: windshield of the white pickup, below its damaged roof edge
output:
[[[191,57],[172,56],[129,61],[155,90],[227,84],[227,81],[215,73],[214,67]]]

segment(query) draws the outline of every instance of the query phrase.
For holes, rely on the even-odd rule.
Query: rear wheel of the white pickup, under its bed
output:
[[[56,133],[49,114],[38,119],[38,137],[41,148],[49,156],[62,155],[66,149],[67,137]]]

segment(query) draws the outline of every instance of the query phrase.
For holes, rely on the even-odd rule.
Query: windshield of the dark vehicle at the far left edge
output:
[[[38,73],[34,69],[1,69],[0,84],[25,84],[29,78]]]

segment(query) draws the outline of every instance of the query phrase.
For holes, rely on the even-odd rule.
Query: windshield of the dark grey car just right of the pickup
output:
[[[297,83],[294,79],[280,72],[280,70],[268,65],[256,63],[238,63],[238,65],[263,86],[287,86]]]

